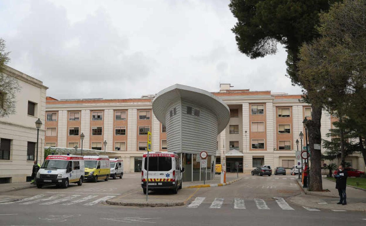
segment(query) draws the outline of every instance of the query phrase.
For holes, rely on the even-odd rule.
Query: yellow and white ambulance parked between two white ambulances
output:
[[[85,155],[85,179],[97,182],[98,180],[108,181],[111,174],[109,157],[107,155]]]

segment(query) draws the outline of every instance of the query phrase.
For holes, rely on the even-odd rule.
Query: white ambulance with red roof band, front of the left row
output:
[[[56,185],[67,188],[70,183],[82,185],[84,160],[78,155],[49,155],[36,175],[37,188]]]

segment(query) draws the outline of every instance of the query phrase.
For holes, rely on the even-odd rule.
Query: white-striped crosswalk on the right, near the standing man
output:
[[[206,201],[206,202],[205,202]],[[208,202],[207,202],[208,201]],[[212,199],[206,197],[196,197],[191,203],[189,203],[186,208],[209,208],[209,209],[220,209],[220,208],[234,208],[242,210],[306,210],[306,211],[321,211],[317,208],[305,207],[305,206],[291,206],[283,197],[274,197],[272,199],[244,199],[236,197],[232,198],[222,198],[217,197]],[[336,211],[336,210],[333,210]]]

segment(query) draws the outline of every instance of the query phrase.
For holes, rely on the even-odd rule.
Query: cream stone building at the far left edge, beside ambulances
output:
[[[16,113],[0,118],[0,184],[30,181],[33,161],[37,158],[37,128],[39,130],[38,163],[43,162],[45,135],[46,86],[14,68],[5,66],[4,74],[14,77],[21,86],[16,93]]]

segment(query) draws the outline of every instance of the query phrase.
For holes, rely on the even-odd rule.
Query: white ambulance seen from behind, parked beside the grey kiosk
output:
[[[182,173],[179,155],[169,152],[149,152],[149,181],[147,181],[147,154],[142,158],[141,186],[146,194],[149,190],[170,189],[177,193],[182,189]]]

